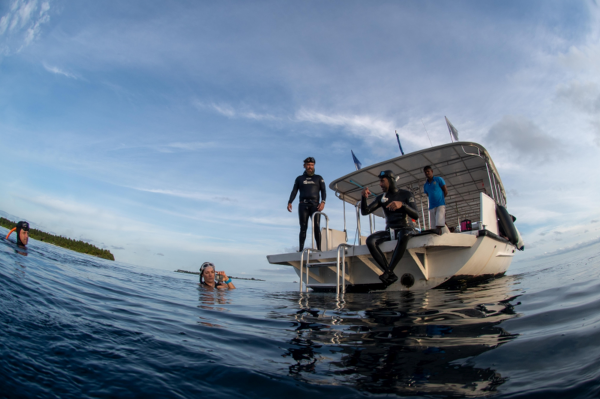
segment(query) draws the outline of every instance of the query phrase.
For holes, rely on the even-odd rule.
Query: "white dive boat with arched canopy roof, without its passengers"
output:
[[[442,234],[428,212],[429,196],[423,186],[426,166],[431,166],[447,187],[446,226],[441,229]],[[380,187],[383,172],[394,176],[395,186],[402,189],[399,191],[407,190],[413,194],[411,204],[414,206],[408,213],[415,215],[416,210],[419,216],[407,216],[411,219],[409,223],[414,224],[414,230],[411,230],[406,250],[391,273],[398,279],[388,280],[387,284],[384,277],[387,270],[381,266],[382,259],[377,262],[369,251],[367,237],[361,235],[360,217],[363,195],[368,196],[366,200],[372,204],[374,200],[385,202],[389,193],[379,196],[384,190]],[[363,167],[334,180],[329,187],[342,200],[344,230],[330,228],[327,215],[315,213],[321,214],[326,221],[321,234],[322,251],[314,249],[312,234],[313,248],[267,256],[271,264],[291,266],[296,270],[301,291],[309,288],[337,293],[381,289],[406,291],[462,285],[504,275],[516,251],[524,248],[514,225],[516,218],[506,209],[506,191],[498,170],[488,151],[474,142],[457,141]],[[347,242],[346,211],[356,215],[357,234],[353,243]],[[377,230],[376,224],[381,223],[377,223],[378,217],[387,217],[386,227],[389,225],[389,212],[385,213],[382,205],[369,214],[371,235]],[[377,242],[380,253],[386,258],[383,262],[387,261],[388,265],[394,261],[398,244],[395,228],[392,226],[391,236],[386,240]],[[385,233],[379,233],[382,235]]]

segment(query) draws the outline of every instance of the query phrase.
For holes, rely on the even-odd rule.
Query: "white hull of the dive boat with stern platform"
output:
[[[388,261],[396,241],[381,245]],[[407,250],[394,272],[400,279],[385,288],[379,280],[383,273],[371,257],[366,245],[346,250],[346,291],[424,290],[473,280],[484,280],[504,275],[512,262],[516,246],[488,231],[448,233],[416,236],[410,239]],[[301,253],[269,255],[272,264],[289,265],[300,275]],[[332,262],[337,250],[314,252],[310,263]],[[304,268],[306,281],[306,267]],[[336,288],[336,266],[309,268],[308,286],[315,291]]]

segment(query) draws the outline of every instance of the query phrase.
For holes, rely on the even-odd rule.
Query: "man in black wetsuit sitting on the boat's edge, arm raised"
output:
[[[368,215],[379,208],[383,208],[385,230],[371,234],[367,238],[367,247],[369,247],[373,259],[383,269],[383,274],[379,276],[379,279],[387,287],[398,281],[398,276],[394,274],[394,268],[404,255],[408,240],[415,234],[412,219],[418,219],[419,213],[415,209],[415,197],[410,191],[396,187],[396,176],[391,170],[382,170],[379,173],[379,187],[381,187],[383,193],[375,197],[375,200],[369,205],[367,205],[367,198],[371,191],[368,188],[363,190],[360,213]],[[398,243],[388,265],[379,245],[393,239],[397,239]]]

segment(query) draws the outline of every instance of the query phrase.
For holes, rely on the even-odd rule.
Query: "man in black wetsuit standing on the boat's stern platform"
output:
[[[308,218],[315,212],[321,212],[325,208],[325,199],[327,191],[325,181],[319,175],[315,175],[315,159],[308,157],[304,160],[304,173],[296,178],[294,188],[290,194],[288,201],[288,211],[292,211],[292,202],[296,198],[298,190],[300,190],[300,203],[298,204],[298,217],[300,218],[300,246],[299,249],[304,249],[304,241],[306,240],[306,229],[308,228]],[[321,201],[319,202],[319,193]],[[315,218],[315,240],[317,241],[317,249],[321,250],[321,215]]]

